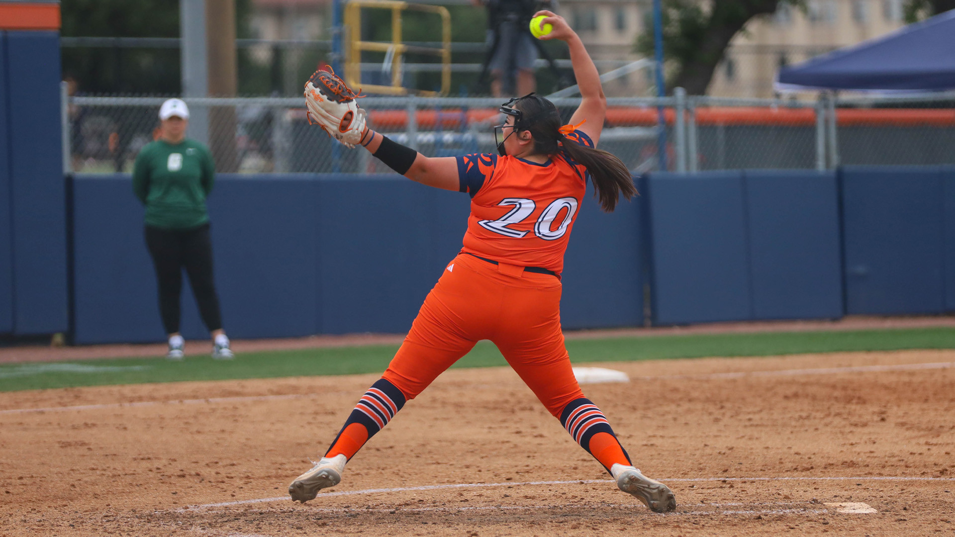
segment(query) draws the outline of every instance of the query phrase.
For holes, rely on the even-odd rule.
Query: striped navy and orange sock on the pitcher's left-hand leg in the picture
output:
[[[350,460],[365,445],[365,442],[394,418],[403,406],[405,406],[405,396],[394,384],[384,378],[371,384],[371,388],[365,392],[351,411],[341,432],[331,442],[325,456],[334,457],[344,454]]]

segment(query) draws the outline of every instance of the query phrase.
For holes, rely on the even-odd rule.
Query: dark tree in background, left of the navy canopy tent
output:
[[[916,0],[918,1],[918,0]],[[926,0],[927,1],[927,0]],[[952,1],[952,0],[935,0]],[[667,87],[703,95],[730,41],[753,17],[776,11],[780,4],[801,6],[803,0],[663,0],[665,59],[674,64]],[[652,21],[650,21],[650,25]],[[637,39],[636,50],[652,56],[652,26]]]

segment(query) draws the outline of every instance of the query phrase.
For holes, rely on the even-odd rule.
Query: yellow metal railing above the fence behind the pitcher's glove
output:
[[[392,11],[392,42],[361,40],[361,10],[363,8]],[[401,11],[425,11],[441,17],[441,48],[416,47],[401,42]],[[409,4],[399,0],[350,0],[345,6],[345,26],[348,28],[348,60],[345,63],[345,79],[352,88],[373,94],[403,96],[415,93],[436,97],[447,95],[451,89],[451,13],[443,6]],[[391,59],[392,85],[362,84],[361,54],[363,51],[385,53]],[[401,59],[406,53],[431,54],[441,58],[441,91],[429,92],[405,88],[401,85]]]

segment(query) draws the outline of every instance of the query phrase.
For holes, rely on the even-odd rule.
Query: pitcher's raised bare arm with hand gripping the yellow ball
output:
[[[600,83],[600,73],[597,71],[597,66],[590,59],[590,54],[587,54],[580,36],[570,28],[570,25],[563,20],[562,16],[546,10],[534,13],[534,16],[538,15],[547,16],[541,21],[541,25],[551,24],[554,26],[553,30],[546,35],[542,35],[541,39],[560,39],[567,43],[567,48],[570,50],[570,64],[574,68],[577,86],[581,90],[581,105],[577,107],[577,111],[570,118],[570,123],[576,125],[585,120],[579,130],[584,131],[596,145],[600,140],[600,133],[604,129],[604,118],[606,117],[606,97],[604,96],[604,87]]]

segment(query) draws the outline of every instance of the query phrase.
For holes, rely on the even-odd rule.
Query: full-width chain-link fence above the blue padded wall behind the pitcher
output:
[[[164,97],[64,99],[66,171],[128,172],[139,149],[157,136]],[[210,146],[221,172],[387,171],[368,152],[345,148],[309,125],[302,98],[186,101],[189,136]],[[554,102],[569,121],[580,99]],[[499,104],[486,97],[361,100],[372,128],[428,156],[494,152]],[[686,97],[678,89],[674,97],[607,104],[600,146],[635,173],[955,163],[953,94],[799,101]]]

